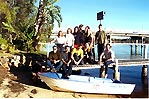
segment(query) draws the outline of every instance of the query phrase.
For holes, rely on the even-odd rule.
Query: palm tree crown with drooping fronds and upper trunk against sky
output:
[[[55,21],[57,21],[58,26],[60,27],[62,22],[62,16],[60,14],[61,8],[54,5],[58,1],[59,0],[40,0],[35,23],[36,39],[41,36],[42,32],[44,32],[44,36],[50,36]]]

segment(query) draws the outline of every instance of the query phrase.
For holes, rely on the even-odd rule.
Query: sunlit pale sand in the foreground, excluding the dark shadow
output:
[[[118,98],[114,95],[57,92],[4,79],[0,86],[0,98]]]

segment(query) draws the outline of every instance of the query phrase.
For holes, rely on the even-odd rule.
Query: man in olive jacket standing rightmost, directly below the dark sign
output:
[[[97,52],[98,52],[98,60],[100,58],[101,53],[104,50],[104,46],[106,44],[106,33],[103,30],[102,24],[98,26],[99,31],[95,34],[95,41],[97,42]]]

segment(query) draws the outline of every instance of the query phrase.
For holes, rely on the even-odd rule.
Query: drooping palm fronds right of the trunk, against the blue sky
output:
[[[58,1],[59,0],[44,0],[44,3],[42,5],[44,8],[44,22],[42,23],[40,32],[37,35],[43,36],[44,38],[48,39],[47,35],[48,37],[50,37],[50,35],[52,34],[55,21],[58,23],[58,26],[60,27],[60,24],[62,22],[62,16],[60,14],[61,8],[59,6],[54,5]],[[43,35],[41,35],[41,33]],[[42,41],[43,39],[40,40]]]

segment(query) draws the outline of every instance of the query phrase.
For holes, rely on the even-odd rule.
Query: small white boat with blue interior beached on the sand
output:
[[[97,93],[97,94],[126,94],[130,95],[135,84],[115,83],[112,79],[90,76],[70,75],[69,79],[62,79],[60,73],[38,73],[52,90]]]

